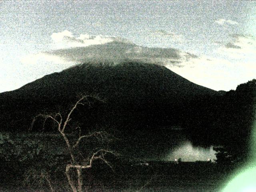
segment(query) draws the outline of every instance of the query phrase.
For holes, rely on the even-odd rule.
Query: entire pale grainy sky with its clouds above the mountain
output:
[[[256,2],[0,0],[0,92],[88,60],[166,66],[214,90],[256,78]]]

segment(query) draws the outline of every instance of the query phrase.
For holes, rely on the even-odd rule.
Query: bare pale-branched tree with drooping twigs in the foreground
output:
[[[108,134],[106,134],[106,132],[96,131],[96,132],[92,132],[90,134],[83,135],[83,134],[81,134],[81,128],[78,127],[78,128],[76,128],[76,129],[79,130],[78,137],[76,138],[75,141],[72,141],[72,142],[68,139],[68,136],[67,136],[68,134],[66,133],[66,128],[68,126],[68,123],[71,120],[71,116],[72,116],[74,110],[76,110],[76,108],[79,105],[82,105],[82,106],[84,106],[86,104],[90,105],[90,101],[88,100],[88,98],[90,98],[90,97],[95,98],[98,101],[102,101],[99,98],[94,97],[94,96],[90,96],[90,95],[82,96],[76,102],[76,104],[74,104],[74,106],[72,106],[72,108],[68,112],[66,118],[63,118],[62,114],[60,112],[56,113],[55,116],[45,115],[45,114],[38,114],[33,119],[32,124],[31,124],[31,128],[32,128],[33,125],[34,125],[35,120],[39,117],[42,117],[42,118],[44,118],[44,124],[46,123],[47,119],[51,119],[57,125],[58,132],[61,134],[62,138],[65,140],[66,147],[68,149],[68,153],[69,153],[70,158],[71,158],[71,164],[66,165],[66,172],[65,173],[66,173],[66,177],[68,179],[68,183],[69,183],[70,187],[72,188],[73,192],[82,192],[82,190],[83,190],[82,170],[92,168],[93,162],[95,160],[102,160],[110,168],[112,168],[110,163],[106,160],[106,158],[104,158],[104,156],[106,154],[114,154],[112,151],[110,151],[108,149],[97,150],[96,152],[91,154],[91,156],[88,158],[88,160],[86,162],[80,162],[78,160],[78,156],[76,156],[76,154],[75,154],[75,150],[76,150],[76,148],[78,147],[78,145],[80,144],[80,142],[82,140],[88,139],[88,138],[93,137],[93,136],[98,138],[99,140],[103,140],[104,137],[108,136]],[[76,181],[74,181],[74,179],[72,179],[72,177],[71,177],[71,170],[76,170],[76,174],[77,174],[77,180]],[[51,187],[51,190],[52,190],[52,187]]]

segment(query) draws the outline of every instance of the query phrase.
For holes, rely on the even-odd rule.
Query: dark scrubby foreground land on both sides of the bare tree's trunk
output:
[[[58,134],[0,133],[0,191],[71,191],[69,156]],[[148,162],[114,159],[113,170],[96,162],[83,171],[84,187],[106,192],[218,192],[229,166],[209,162]],[[75,177],[75,175],[74,175]]]

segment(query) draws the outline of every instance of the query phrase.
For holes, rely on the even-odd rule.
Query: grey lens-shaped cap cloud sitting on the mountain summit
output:
[[[83,36],[80,38],[84,38]],[[85,37],[88,39],[88,36]],[[95,40],[95,38],[93,38]],[[161,65],[180,65],[181,62],[196,58],[194,54],[182,52],[174,48],[148,48],[137,46],[122,38],[111,38],[112,41],[90,46],[61,48],[45,52],[68,62],[110,61],[119,63],[124,60],[136,60]]]

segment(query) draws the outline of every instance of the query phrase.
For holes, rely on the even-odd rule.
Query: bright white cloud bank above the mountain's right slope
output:
[[[256,39],[252,35],[232,34],[228,43],[220,46],[215,56],[190,57],[183,67],[166,66],[184,78],[214,90],[236,89],[238,84],[256,78]]]

